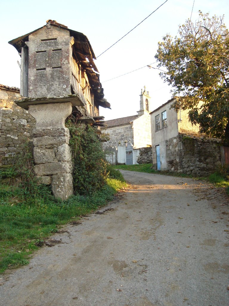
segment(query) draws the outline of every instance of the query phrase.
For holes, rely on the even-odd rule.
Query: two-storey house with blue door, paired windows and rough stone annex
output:
[[[199,128],[188,119],[188,110],[178,113],[171,99],[150,113],[153,164],[169,170],[205,176],[221,165],[224,147],[215,138],[198,134]]]

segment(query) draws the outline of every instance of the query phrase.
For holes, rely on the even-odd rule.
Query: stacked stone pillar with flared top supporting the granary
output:
[[[73,166],[69,129],[64,122],[72,112],[72,104],[35,104],[29,105],[28,110],[36,119],[33,131],[35,174],[41,183],[51,184],[55,197],[66,200],[73,194]]]

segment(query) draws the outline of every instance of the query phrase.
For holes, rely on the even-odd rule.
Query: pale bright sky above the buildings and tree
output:
[[[0,83],[20,87],[20,68],[17,64],[20,56],[8,41],[42,27],[46,20],[56,20],[84,33],[98,56],[164,1],[4,1],[0,11]],[[95,61],[100,71],[104,98],[111,103],[111,110],[100,107],[100,115],[105,116],[105,120],[137,114],[139,95],[144,85],[151,96],[150,110],[171,98],[168,85],[163,83],[159,71],[155,69],[145,67],[115,80],[104,81],[156,62],[154,55],[158,41],[162,41],[167,33],[173,37],[177,34],[179,24],[191,17],[192,6],[193,0],[168,0]],[[210,16],[224,14],[224,23],[229,28],[228,0],[195,0],[192,21],[198,18],[198,10],[209,12]]]

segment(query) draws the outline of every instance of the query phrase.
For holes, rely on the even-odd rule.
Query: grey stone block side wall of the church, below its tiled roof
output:
[[[127,125],[120,125],[111,128],[107,128],[103,130],[104,133],[110,134],[110,140],[112,143],[112,147],[118,147],[118,145],[123,146],[125,145],[128,140],[133,144],[133,129],[131,124]],[[110,147],[110,141],[103,143],[104,149],[106,147]]]

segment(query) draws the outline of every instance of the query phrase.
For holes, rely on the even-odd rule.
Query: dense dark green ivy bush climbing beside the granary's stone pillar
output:
[[[75,118],[67,120],[70,131],[69,145],[73,160],[73,187],[81,195],[89,195],[105,184],[106,161],[95,129],[80,125]]]

